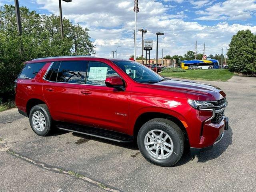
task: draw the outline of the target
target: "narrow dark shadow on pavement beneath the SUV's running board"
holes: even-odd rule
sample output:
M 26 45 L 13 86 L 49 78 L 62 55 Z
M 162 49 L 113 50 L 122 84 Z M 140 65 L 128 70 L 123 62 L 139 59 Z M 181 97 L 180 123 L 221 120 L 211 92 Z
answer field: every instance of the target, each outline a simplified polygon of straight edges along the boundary
M 123 148 L 131 149 L 131 150 L 139 150 L 138 146 L 134 142 L 131 142 L 131 143 L 120 143 L 120 142 L 115 142 L 115 141 L 111 141 L 111 140 L 101 139 L 101 138 L 97 138 L 97 137 L 93 137 L 93 136 L 87 136 L 87 135 L 83 135 L 83 134 L 78 134 L 78 133 L 72 133 L 72 135 L 74 135 L 76 137 L 84 138 L 86 140 L 94 140 L 94 141 L 98 141 L 98 142 L 102 142 L 102 143 L 106 143 L 106 144 L 111 144 L 111 145 L 115 145 L 115 146 L 118 146 L 118 147 L 123 147 Z

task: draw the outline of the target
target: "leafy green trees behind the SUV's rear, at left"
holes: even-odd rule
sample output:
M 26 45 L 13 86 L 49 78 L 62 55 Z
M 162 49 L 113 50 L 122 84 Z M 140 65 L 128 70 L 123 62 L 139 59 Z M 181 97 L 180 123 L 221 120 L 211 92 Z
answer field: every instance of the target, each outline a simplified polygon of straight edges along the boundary
M 0 101 L 14 96 L 14 80 L 23 63 L 34 58 L 95 53 L 88 28 L 63 19 L 64 37 L 60 33 L 60 17 L 41 15 L 20 7 L 22 34 L 17 32 L 15 7 L 0 7 Z

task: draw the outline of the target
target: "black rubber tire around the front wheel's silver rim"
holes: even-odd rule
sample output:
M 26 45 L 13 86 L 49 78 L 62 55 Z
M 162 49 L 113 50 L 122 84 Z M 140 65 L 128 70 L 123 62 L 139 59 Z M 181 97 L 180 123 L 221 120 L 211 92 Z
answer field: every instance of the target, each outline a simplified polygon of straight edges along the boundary
M 146 134 L 150 132 L 150 130 L 162 130 L 170 136 L 173 142 L 173 152 L 171 155 L 166 159 L 157 159 L 154 158 L 150 153 L 146 150 L 146 146 L 144 144 L 144 139 Z M 148 122 L 146 122 L 139 130 L 138 137 L 137 137 L 138 148 L 140 149 L 141 154 L 144 156 L 148 162 L 163 166 L 163 167 L 170 167 L 176 164 L 180 158 L 182 157 L 183 150 L 184 150 L 184 134 L 180 130 L 177 124 L 174 122 L 162 119 L 162 118 L 155 118 Z

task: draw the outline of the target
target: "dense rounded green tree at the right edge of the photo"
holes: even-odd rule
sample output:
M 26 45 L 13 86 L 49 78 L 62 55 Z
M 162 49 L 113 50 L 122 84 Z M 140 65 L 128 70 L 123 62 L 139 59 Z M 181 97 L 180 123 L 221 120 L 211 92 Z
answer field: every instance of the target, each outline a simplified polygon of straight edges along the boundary
M 250 30 L 238 31 L 231 39 L 228 66 L 234 72 L 256 73 L 256 35 Z

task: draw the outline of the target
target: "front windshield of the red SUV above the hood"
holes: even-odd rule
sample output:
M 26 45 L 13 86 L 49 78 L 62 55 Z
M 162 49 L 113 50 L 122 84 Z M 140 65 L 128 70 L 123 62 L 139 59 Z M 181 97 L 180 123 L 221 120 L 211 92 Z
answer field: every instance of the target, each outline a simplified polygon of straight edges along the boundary
M 154 71 L 148 67 L 133 61 L 112 61 L 119 68 L 121 68 L 126 74 L 130 76 L 133 80 L 140 83 L 157 83 L 164 81 L 160 75 L 156 74 Z

